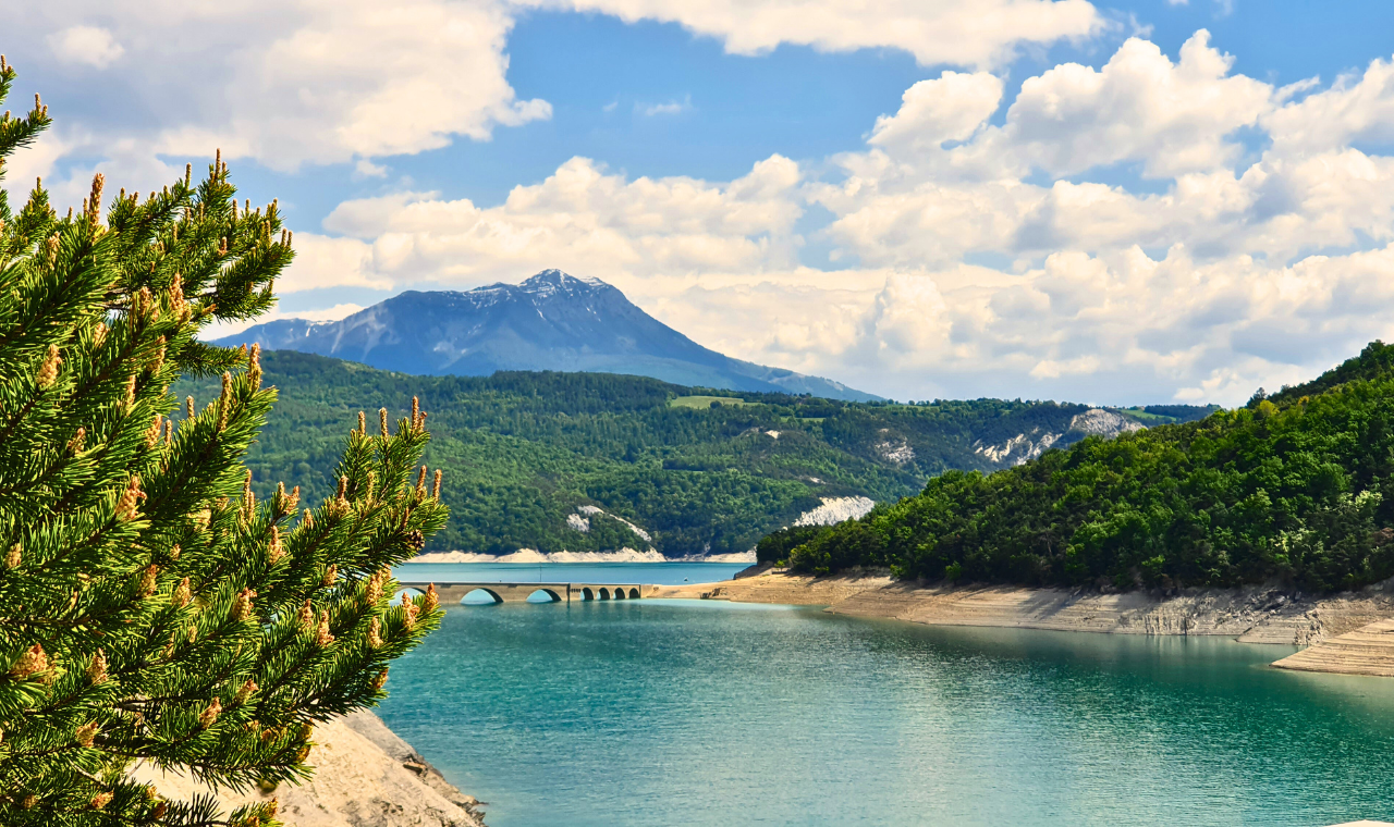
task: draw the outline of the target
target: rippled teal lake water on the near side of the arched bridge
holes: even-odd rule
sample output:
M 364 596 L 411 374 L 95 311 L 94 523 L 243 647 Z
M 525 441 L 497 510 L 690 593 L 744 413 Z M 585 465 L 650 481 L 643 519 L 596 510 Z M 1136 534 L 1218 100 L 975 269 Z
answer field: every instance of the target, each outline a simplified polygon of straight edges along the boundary
M 491 827 L 1394 820 L 1394 681 L 1224 639 L 460 607 L 381 714 Z

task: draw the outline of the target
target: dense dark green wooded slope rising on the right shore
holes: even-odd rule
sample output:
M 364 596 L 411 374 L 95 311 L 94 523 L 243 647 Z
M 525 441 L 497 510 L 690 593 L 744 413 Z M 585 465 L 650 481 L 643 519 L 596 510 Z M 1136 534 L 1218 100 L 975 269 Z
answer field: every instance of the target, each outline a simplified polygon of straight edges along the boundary
M 1236 411 L 1020 466 L 951 471 L 866 518 L 765 537 L 827 574 L 1029 585 L 1333 590 L 1394 575 L 1394 348 Z

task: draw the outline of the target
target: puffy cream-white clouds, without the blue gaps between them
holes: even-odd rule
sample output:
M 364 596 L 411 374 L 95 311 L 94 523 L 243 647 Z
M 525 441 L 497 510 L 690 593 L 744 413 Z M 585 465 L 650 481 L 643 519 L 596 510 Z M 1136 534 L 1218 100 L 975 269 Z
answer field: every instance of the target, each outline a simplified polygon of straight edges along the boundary
M 66 120 L 11 180 L 88 157 L 96 136 L 103 156 L 75 164 L 68 200 L 92 168 L 158 185 L 181 171 L 167 159 L 212 146 L 386 180 L 375 162 L 548 118 L 507 82 L 509 32 L 526 10 L 587 11 L 676 22 L 739 54 L 888 47 L 953 68 L 926 71 L 861 146 L 772 155 L 730 181 L 573 157 L 498 206 L 424 188 L 348 200 L 297 233 L 282 291 L 470 288 L 556 266 L 615 283 L 708 347 L 896 398 L 1234 404 L 1394 333 L 1394 156 L 1374 149 L 1394 141 L 1391 61 L 1278 88 L 1236 74 L 1204 31 L 1174 56 L 1136 36 L 1098 68 L 1054 65 L 1009 95 L 1020 49 L 1108 28 L 1092 4 L 269 8 L 15 10 L 32 60 L 131 106 Z M 827 220 L 810 230 L 810 216 Z

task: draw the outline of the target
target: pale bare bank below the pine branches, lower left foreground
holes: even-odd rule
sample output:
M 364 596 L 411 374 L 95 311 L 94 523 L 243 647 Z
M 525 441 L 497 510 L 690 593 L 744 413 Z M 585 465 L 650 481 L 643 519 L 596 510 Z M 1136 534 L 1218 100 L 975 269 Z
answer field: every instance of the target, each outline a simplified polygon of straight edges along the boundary
M 183 773 L 149 764 L 131 775 L 169 798 L 212 794 L 227 809 L 275 798 L 289 827 L 484 827 L 480 802 L 452 787 L 378 716 L 360 711 L 322 724 L 314 739 L 309 764 L 315 775 L 300 787 L 212 791 Z

